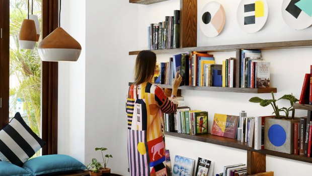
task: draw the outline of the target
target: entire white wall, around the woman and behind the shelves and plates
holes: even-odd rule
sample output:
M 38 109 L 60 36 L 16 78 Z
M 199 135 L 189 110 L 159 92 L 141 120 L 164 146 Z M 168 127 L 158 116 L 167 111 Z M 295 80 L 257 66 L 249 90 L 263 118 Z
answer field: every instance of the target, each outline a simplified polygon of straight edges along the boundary
M 198 1 L 198 11 L 210 1 Z M 268 1 L 269 19 L 265 27 L 255 34 L 246 34 L 237 25 L 236 9 L 240 1 L 219 0 L 226 12 L 225 28 L 215 38 L 205 37 L 198 29 L 198 46 L 312 39 L 312 27 L 292 30 L 281 18 L 282 0 Z M 128 82 L 133 80 L 135 55 L 128 51 L 147 48 L 147 26 L 158 23 L 165 16 L 173 16 L 180 9 L 179 0 L 153 5 L 135 5 L 128 1 L 63 1 L 61 25 L 83 46 L 77 63 L 60 63 L 59 66 L 59 148 L 85 164 L 96 157 L 95 147 L 107 147 L 112 172 L 128 175 L 125 115 L 125 96 Z M 263 57 L 271 62 L 272 86 L 277 87 L 276 97 L 293 93 L 299 97 L 304 73 L 312 65 L 311 48 L 264 50 Z M 235 56 L 234 52 L 215 52 L 216 63 Z M 167 61 L 170 55 L 158 55 L 158 61 Z M 270 94 L 220 93 L 182 91 L 186 104 L 192 109 L 208 110 L 211 131 L 214 113 L 268 115 L 270 107 L 249 103 L 253 96 L 269 98 Z M 280 106 L 288 105 L 281 102 Z M 297 115 L 304 115 L 298 111 Z M 78 137 L 78 139 L 76 139 Z M 81 138 L 79 138 L 81 137 Z M 222 166 L 246 163 L 247 152 L 175 137 L 166 137 L 172 158 L 182 155 L 197 159 L 205 157 L 215 161 L 214 170 Z M 178 146 L 178 147 L 177 147 Z M 285 169 L 296 168 L 296 169 Z M 267 170 L 275 175 L 305 175 L 310 164 L 267 156 Z

